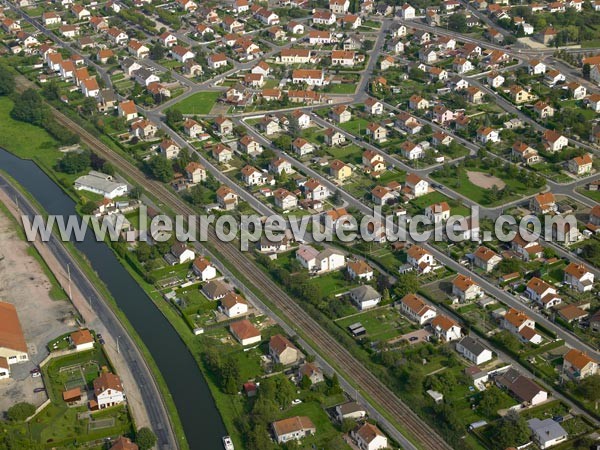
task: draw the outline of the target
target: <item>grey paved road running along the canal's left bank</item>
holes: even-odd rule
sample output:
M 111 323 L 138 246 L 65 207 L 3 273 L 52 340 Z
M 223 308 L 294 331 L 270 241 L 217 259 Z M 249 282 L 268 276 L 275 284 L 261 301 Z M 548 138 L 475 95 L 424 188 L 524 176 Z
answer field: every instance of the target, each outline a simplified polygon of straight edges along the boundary
M 22 213 L 27 215 L 30 220 L 33 220 L 33 217 L 38 215 L 29 200 L 23 196 L 20 191 L 10 185 L 8 180 L 1 175 L 0 189 L 2 189 L 10 198 L 17 199 Z M 94 285 L 79 268 L 79 265 L 65 249 L 62 242 L 52 234 L 51 239 L 45 245 L 63 267 L 70 267 L 70 275 L 73 284 L 76 285 L 85 298 L 88 299 L 90 308 L 97 314 L 98 319 L 105 326 L 108 333 L 111 336 L 120 336 L 119 354 L 125 360 L 129 370 L 137 380 L 137 385 L 150 418 L 152 429 L 158 438 L 158 448 L 164 450 L 179 448 L 178 442 L 169 425 L 171 421 L 163 403 L 162 395 L 142 354 L 127 333 L 127 330 L 123 327 Z

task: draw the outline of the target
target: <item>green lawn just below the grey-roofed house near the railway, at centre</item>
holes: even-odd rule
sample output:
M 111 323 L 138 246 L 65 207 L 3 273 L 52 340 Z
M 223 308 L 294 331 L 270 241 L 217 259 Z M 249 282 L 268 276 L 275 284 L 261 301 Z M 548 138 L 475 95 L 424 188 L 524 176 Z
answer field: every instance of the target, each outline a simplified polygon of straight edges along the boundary
M 340 319 L 336 323 L 344 331 L 347 331 L 348 326 L 357 322 L 365 327 L 367 335 L 372 341 L 388 341 L 410 331 L 408 321 L 392 306 L 354 314 Z

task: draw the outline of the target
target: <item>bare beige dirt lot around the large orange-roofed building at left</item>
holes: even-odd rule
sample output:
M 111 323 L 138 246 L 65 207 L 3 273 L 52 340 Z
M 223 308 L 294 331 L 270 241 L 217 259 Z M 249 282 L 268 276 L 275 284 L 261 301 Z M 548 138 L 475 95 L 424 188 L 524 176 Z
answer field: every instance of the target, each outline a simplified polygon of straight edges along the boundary
M 48 355 L 48 341 L 76 329 L 73 307 L 67 301 L 50 298 L 51 283 L 27 252 L 28 247 L 15 232 L 14 222 L 0 211 L 0 299 L 17 307 L 30 358 L 29 362 L 14 364 L 11 379 L 0 382 L 0 414 L 17 401 L 39 405 L 46 400 L 45 394 L 33 393 L 43 384 L 29 371 Z

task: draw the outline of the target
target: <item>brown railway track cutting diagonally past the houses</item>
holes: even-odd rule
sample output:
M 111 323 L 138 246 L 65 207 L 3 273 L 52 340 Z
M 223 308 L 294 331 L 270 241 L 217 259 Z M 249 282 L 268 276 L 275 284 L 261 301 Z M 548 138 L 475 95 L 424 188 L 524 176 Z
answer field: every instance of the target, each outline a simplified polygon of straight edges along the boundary
M 168 204 L 174 212 L 182 215 L 196 214 L 187 203 L 178 195 L 169 191 L 162 183 L 146 178 L 135 165 L 115 153 L 94 135 L 59 111 L 52 109 L 52 112 L 58 123 L 79 134 L 83 143 L 94 149 L 115 167 L 124 170 L 132 180 L 150 192 L 155 198 Z M 213 228 L 209 228 L 208 234 L 211 245 L 215 247 L 217 253 L 228 261 L 235 261 L 237 269 L 255 287 L 260 289 L 279 310 L 292 320 L 296 329 L 301 329 L 310 336 L 310 339 L 327 358 L 351 377 L 356 384 L 361 386 L 362 390 L 373 401 L 383 406 L 393 420 L 401 424 L 412 439 L 419 443 L 420 447 L 431 450 L 451 449 L 435 430 L 418 417 L 391 389 L 352 356 L 344 346 L 325 331 L 321 325 L 305 312 L 271 278 L 257 268 L 255 263 L 250 261 L 234 244 L 221 242 L 217 239 Z

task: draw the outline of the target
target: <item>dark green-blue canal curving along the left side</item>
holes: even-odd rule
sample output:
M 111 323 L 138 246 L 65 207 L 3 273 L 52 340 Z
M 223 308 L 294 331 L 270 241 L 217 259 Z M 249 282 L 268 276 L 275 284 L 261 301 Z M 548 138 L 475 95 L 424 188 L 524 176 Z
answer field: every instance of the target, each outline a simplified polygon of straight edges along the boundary
M 75 202 L 34 162 L 0 149 L 0 169 L 25 188 L 48 214 L 76 214 Z M 192 450 L 223 448 L 226 433 L 206 380 L 175 329 L 104 242 L 86 233 L 74 242 L 110 290 L 162 373 Z M 167 424 L 164 424 L 167 426 Z

